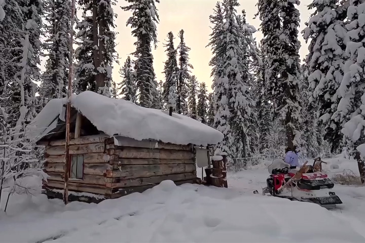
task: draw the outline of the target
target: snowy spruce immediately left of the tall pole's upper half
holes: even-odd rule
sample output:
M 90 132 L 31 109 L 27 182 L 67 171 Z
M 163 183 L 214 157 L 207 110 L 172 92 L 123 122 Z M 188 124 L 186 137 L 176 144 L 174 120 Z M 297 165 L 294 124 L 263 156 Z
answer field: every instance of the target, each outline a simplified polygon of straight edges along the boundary
M 66 96 L 69 66 L 70 0 L 45 3 L 45 27 L 48 39 L 46 70 L 41 76 L 40 95 L 50 100 Z

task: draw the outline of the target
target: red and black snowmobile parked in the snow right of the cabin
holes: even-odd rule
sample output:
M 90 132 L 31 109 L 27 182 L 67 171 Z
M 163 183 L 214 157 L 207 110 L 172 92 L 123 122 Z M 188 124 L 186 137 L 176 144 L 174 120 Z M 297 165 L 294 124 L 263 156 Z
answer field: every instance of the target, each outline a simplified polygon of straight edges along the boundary
M 290 200 L 306 201 L 323 207 L 342 204 L 341 199 L 331 191 L 334 183 L 318 166 L 323 161 L 316 159 L 313 166 L 308 161 L 299 169 L 290 167 L 282 159 L 274 159 L 268 167 L 270 176 L 266 180 L 267 187 L 263 195 L 272 195 Z M 253 193 L 259 193 L 257 190 Z

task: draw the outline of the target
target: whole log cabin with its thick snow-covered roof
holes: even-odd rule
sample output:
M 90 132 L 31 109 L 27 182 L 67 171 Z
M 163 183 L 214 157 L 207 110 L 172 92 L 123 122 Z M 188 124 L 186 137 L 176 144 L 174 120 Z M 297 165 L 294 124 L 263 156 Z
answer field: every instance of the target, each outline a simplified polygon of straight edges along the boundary
M 50 100 L 27 127 L 32 141 L 45 146 L 49 177 L 43 193 L 48 198 L 63 194 L 66 102 Z M 197 159 L 206 160 L 199 161 L 204 166 L 207 146 L 223 140 L 221 132 L 190 117 L 90 91 L 73 95 L 70 102 L 69 201 L 98 203 L 163 180 L 195 183 Z

